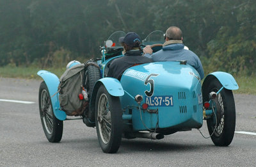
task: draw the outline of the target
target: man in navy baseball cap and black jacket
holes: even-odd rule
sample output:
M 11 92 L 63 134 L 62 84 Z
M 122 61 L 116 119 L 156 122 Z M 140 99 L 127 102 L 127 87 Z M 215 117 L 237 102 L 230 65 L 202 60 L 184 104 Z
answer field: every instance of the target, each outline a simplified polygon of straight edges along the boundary
M 141 39 L 136 33 L 127 33 L 119 39 L 124 47 L 124 56 L 116 58 L 109 65 L 108 77 L 115 77 L 120 80 L 124 71 L 136 64 L 150 63 L 152 60 L 141 56 L 143 51 L 140 49 Z

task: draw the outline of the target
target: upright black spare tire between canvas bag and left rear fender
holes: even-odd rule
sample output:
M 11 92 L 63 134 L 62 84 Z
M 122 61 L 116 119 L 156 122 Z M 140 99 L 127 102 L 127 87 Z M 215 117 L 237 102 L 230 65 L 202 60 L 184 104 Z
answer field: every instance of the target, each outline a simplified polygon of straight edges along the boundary
M 88 92 L 88 96 L 91 97 L 93 86 L 100 79 L 99 67 L 96 67 L 95 65 L 88 65 L 88 67 L 86 67 L 86 72 L 84 76 L 85 76 L 84 87 Z

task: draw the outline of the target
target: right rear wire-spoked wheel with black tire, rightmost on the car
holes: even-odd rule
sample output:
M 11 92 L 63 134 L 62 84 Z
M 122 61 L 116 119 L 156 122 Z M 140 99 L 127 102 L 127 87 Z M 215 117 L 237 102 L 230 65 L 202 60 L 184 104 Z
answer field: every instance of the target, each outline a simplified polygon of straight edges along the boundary
M 222 84 L 220 81 L 212 77 L 209 84 L 204 86 L 204 102 L 209 101 L 209 93 L 211 93 L 211 91 L 217 92 L 221 87 Z M 232 91 L 223 88 L 223 90 L 218 93 L 215 102 L 212 102 L 212 106 L 214 106 L 216 115 L 212 115 L 211 118 L 207 119 L 209 134 L 211 135 L 213 132 L 211 136 L 212 142 L 216 146 L 228 146 L 232 142 L 236 127 L 236 107 Z

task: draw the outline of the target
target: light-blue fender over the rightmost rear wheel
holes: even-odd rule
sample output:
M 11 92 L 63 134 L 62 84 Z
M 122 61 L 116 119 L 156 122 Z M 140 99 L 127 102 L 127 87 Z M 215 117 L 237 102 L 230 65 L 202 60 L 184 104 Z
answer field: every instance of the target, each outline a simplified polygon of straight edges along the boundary
M 216 77 L 216 79 L 218 79 L 220 83 L 223 85 L 223 87 L 227 90 L 237 90 L 239 88 L 238 84 L 236 83 L 236 80 L 231 74 L 228 74 L 227 72 L 212 72 L 211 74 L 205 77 L 204 83 L 202 85 L 203 90 L 204 87 L 212 81 L 212 77 Z

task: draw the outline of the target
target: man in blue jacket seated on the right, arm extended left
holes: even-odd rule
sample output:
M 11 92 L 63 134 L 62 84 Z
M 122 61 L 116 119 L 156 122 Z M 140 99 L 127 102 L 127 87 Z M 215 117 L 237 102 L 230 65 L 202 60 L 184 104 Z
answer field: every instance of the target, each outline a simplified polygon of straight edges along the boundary
M 152 54 L 150 45 L 144 47 L 144 56 L 153 61 L 180 61 L 186 60 L 189 65 L 194 67 L 199 73 L 201 79 L 204 78 L 204 69 L 198 56 L 192 51 L 184 49 L 182 43 L 182 31 L 180 28 L 171 26 L 164 35 L 163 49 Z

